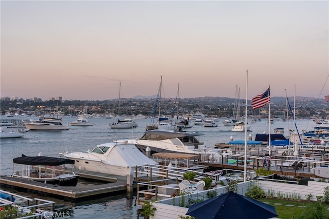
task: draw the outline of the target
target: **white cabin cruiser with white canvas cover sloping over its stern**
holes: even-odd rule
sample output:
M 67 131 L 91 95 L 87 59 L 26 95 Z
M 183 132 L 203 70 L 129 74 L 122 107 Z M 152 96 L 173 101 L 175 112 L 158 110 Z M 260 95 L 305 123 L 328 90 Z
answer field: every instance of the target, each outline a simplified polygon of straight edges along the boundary
M 135 145 L 127 144 L 127 141 L 100 144 L 91 151 L 62 155 L 74 161 L 77 169 L 120 176 L 133 174 L 136 166 L 158 164 L 139 151 Z

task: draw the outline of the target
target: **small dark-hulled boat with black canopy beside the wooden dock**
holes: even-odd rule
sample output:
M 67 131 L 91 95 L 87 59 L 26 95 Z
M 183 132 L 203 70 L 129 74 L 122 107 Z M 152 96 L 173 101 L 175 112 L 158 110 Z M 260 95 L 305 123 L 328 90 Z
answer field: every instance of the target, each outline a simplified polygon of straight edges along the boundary
M 13 159 L 13 177 L 59 186 L 76 186 L 79 175 L 73 172 L 74 161 L 48 156 L 25 156 Z M 71 165 L 71 173 L 67 173 Z

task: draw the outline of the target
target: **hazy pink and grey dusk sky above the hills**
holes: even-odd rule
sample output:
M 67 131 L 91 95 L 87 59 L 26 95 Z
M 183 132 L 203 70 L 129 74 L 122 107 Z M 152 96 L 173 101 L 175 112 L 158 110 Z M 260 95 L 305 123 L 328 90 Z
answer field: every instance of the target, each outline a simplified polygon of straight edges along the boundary
M 1 97 L 329 95 L 329 1 L 0 4 Z

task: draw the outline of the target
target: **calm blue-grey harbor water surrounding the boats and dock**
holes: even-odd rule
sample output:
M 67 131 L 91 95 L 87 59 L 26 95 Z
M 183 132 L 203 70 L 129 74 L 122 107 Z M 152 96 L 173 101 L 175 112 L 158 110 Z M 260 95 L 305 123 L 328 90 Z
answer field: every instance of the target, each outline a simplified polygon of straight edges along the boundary
M 3 119 L 6 119 L 3 117 Z M 24 119 L 29 119 L 28 117 Z M 77 120 L 74 117 L 63 118 L 64 123 Z M 143 134 L 145 125 L 149 120 L 136 120 L 139 127 L 136 129 L 111 129 L 109 124 L 115 122 L 115 118 L 90 118 L 90 123 L 94 126 L 69 126 L 65 131 L 29 131 L 22 138 L 1 139 L 0 145 L 0 173 L 12 173 L 12 159 L 22 154 L 27 156 L 36 156 L 39 152 L 44 156 L 59 156 L 60 152 L 86 151 L 94 146 L 113 140 L 122 140 L 127 138 L 137 138 Z M 227 143 L 232 136 L 234 140 L 243 140 L 244 132 L 232 132 L 231 127 L 223 126 L 224 119 L 220 119 L 218 127 L 193 126 L 189 131 L 199 131 L 205 135 L 200 140 L 208 147 L 214 147 L 216 143 Z M 315 123 L 312 120 L 297 120 L 298 130 L 313 130 Z M 275 121 L 271 124 L 271 133 L 274 128 L 284 128 L 285 133 L 288 129 L 294 129 L 293 121 L 281 122 Z M 251 124 L 252 140 L 257 133 L 268 131 L 266 120 Z M 86 185 L 85 185 L 86 186 Z M 16 191 L 11 191 L 16 192 Z M 20 192 L 21 195 L 37 197 L 36 194 L 27 194 Z M 125 194 L 109 196 L 97 200 L 81 203 L 63 202 L 50 197 L 41 197 L 46 200 L 56 202 L 56 211 L 69 212 L 69 217 L 58 218 L 137 218 L 137 210 L 141 207 L 136 205 L 136 196 L 126 197 Z

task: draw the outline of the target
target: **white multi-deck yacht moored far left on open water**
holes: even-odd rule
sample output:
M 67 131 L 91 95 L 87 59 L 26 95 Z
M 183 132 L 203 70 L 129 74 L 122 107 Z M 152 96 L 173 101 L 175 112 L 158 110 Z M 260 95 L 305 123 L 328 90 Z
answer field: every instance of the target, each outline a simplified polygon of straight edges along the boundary
M 68 130 L 68 125 L 62 123 L 62 114 L 46 114 L 39 120 L 30 120 L 24 123 L 30 130 Z

